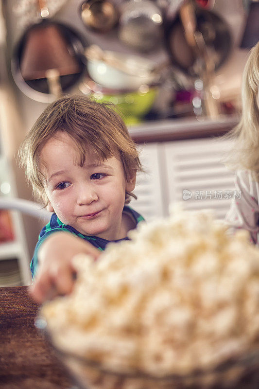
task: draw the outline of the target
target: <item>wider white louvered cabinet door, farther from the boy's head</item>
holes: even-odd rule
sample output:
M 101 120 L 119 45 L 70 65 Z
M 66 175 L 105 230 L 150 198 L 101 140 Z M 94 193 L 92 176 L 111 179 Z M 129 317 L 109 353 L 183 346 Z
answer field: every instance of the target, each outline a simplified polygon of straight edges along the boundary
M 212 209 L 223 219 L 233 196 L 234 172 L 222 162 L 230 141 L 199 139 L 164 143 L 168 181 L 168 205 L 183 202 L 185 209 Z M 183 191 L 191 198 L 183 200 Z

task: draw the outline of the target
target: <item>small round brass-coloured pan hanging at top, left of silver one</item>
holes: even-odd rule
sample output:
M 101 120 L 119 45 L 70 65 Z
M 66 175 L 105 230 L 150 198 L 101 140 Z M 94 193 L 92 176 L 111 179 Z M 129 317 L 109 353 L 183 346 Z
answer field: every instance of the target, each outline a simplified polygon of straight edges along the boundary
M 90 29 L 106 32 L 115 26 L 119 14 L 108 0 L 87 0 L 81 6 L 81 18 Z

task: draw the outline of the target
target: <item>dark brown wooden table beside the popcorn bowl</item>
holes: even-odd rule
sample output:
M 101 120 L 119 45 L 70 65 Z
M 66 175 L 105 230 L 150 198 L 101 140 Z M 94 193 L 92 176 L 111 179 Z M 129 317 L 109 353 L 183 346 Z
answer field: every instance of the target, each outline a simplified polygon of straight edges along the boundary
M 0 388 L 67 389 L 73 384 L 34 326 L 39 305 L 26 286 L 0 288 Z

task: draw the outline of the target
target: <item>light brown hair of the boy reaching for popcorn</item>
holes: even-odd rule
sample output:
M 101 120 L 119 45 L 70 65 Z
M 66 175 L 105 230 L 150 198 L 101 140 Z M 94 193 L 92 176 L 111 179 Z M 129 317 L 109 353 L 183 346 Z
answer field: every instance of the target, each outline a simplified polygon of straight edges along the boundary
M 37 201 L 44 201 L 45 207 L 48 199 L 44 190 L 45 178 L 39 169 L 40 152 L 57 131 L 64 131 L 75 142 L 80 166 L 90 148 L 98 161 L 119 152 L 127 181 L 132 174 L 143 171 L 136 145 L 113 105 L 97 103 L 80 95 L 61 97 L 42 112 L 18 151 L 20 165 L 25 168 L 33 194 Z M 126 192 L 125 203 L 130 202 L 130 196 L 137 198 Z

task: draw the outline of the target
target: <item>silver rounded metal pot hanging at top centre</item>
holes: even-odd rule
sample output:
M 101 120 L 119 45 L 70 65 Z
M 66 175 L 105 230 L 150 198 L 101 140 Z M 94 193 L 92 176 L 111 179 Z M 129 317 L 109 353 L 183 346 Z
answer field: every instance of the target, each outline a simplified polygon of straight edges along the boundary
M 129 0 L 121 6 L 118 36 L 122 42 L 141 52 L 161 44 L 163 17 L 151 0 Z

